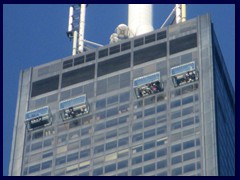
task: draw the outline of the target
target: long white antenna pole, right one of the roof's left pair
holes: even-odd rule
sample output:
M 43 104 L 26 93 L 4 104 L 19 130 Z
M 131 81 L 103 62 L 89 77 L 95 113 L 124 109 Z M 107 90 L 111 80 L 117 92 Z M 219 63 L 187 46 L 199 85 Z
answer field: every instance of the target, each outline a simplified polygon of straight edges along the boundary
M 86 16 L 86 4 L 81 4 L 80 8 L 80 21 L 79 21 L 79 36 L 78 36 L 78 52 L 83 52 L 84 49 L 84 30 L 85 30 L 85 16 Z

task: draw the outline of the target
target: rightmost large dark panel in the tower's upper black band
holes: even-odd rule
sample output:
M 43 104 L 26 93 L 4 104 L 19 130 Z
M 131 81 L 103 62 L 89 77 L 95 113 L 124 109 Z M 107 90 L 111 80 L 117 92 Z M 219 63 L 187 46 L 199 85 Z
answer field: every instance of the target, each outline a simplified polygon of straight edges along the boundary
M 170 54 L 197 47 L 197 34 L 189 34 L 170 41 Z

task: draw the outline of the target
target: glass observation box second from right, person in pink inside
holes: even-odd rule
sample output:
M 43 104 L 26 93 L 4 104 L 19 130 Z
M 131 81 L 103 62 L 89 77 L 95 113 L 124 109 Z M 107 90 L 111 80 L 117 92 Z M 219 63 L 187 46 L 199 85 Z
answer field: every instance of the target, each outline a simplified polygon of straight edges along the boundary
M 149 96 L 164 90 L 160 72 L 134 79 L 133 88 L 137 98 Z

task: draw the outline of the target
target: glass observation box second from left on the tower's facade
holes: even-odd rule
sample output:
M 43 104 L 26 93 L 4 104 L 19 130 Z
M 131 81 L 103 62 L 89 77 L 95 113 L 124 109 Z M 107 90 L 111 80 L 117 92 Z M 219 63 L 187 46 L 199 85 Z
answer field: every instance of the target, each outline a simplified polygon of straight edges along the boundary
M 89 113 L 89 105 L 86 102 L 86 95 L 73 99 L 61 101 L 59 109 L 62 119 L 68 120 Z

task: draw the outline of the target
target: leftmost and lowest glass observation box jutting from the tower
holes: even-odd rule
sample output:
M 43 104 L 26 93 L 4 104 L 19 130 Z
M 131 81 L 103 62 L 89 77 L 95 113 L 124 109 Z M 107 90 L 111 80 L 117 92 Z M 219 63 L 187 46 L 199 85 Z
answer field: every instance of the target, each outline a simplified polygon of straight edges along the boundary
M 25 124 L 28 130 L 51 125 L 52 117 L 48 106 L 29 111 L 25 115 Z

